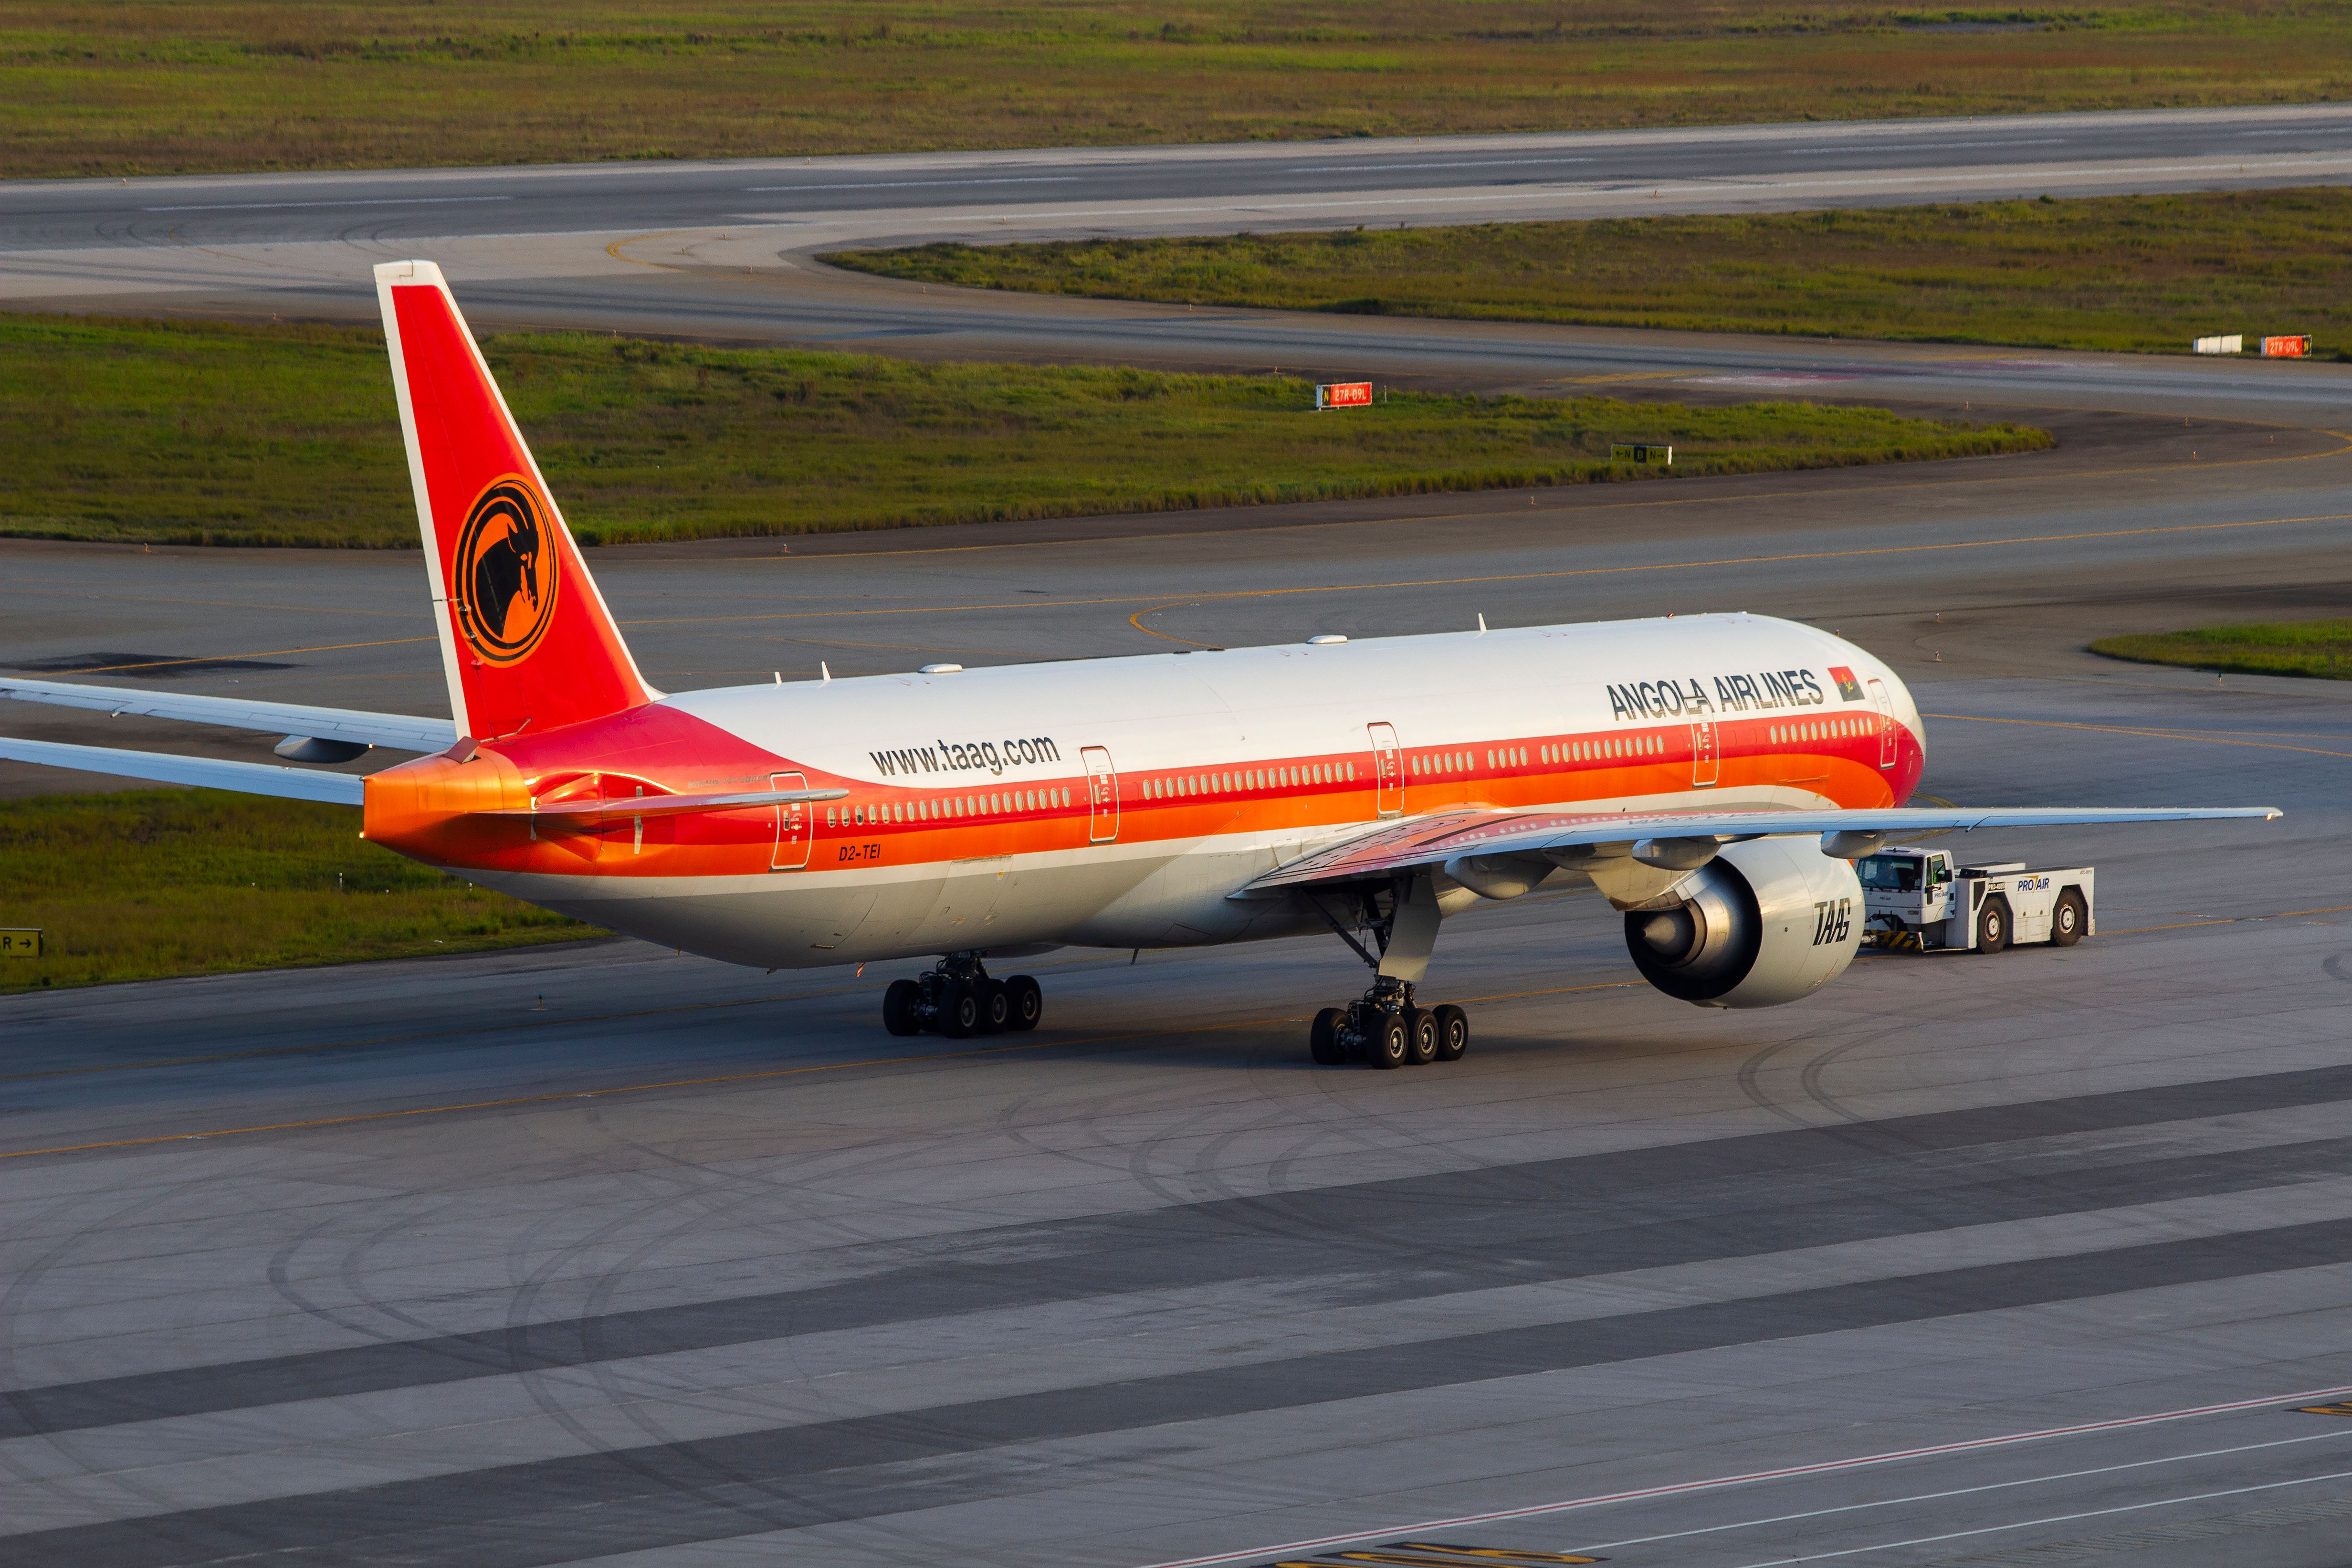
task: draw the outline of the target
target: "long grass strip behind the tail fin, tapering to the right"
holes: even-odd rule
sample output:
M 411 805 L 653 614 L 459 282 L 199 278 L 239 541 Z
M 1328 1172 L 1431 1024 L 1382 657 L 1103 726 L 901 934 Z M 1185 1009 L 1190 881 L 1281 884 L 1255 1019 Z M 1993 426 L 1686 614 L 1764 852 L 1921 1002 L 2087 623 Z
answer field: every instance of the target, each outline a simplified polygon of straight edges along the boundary
M 485 343 L 583 541 L 1145 512 L 2025 451 L 2023 425 L 1759 402 L 1397 395 L 517 334 Z M 0 317 L 0 534 L 414 545 L 374 329 Z

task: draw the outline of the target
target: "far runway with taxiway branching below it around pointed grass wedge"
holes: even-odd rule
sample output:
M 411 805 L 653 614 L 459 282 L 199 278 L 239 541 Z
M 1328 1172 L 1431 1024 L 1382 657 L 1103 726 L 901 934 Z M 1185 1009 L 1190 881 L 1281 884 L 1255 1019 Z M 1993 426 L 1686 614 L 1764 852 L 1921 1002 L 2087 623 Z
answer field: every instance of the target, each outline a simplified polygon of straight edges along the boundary
M 2352 106 L 2324 103 L 821 162 L 40 181 L 0 186 L 0 306 L 374 322 L 369 268 L 428 256 L 480 327 L 1482 386 L 1729 378 L 1750 395 L 1795 388 L 2274 416 L 2274 404 L 2310 390 L 2296 371 L 2314 367 L 927 292 L 809 256 L 927 240 L 1764 212 L 2345 179 Z M 2340 393 L 2328 397 L 2343 407 Z

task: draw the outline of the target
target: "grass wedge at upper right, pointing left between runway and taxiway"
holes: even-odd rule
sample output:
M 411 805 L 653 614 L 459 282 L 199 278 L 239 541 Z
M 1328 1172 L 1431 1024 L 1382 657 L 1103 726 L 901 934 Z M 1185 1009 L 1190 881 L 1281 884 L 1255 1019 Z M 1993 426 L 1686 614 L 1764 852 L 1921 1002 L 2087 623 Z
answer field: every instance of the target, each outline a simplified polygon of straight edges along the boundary
M 2352 343 L 2352 190 L 2246 190 L 1484 223 L 1334 235 L 927 244 L 889 277 L 1218 306 L 2187 353 Z

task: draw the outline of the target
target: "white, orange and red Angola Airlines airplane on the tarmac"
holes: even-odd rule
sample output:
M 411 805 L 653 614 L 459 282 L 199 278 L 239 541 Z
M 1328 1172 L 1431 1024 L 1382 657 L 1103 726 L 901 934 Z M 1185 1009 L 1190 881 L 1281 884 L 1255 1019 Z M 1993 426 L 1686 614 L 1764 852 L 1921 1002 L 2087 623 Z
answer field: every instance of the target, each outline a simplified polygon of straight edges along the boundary
M 863 675 L 663 693 L 630 658 L 440 268 L 376 268 L 449 719 L 0 677 L 0 693 L 275 731 L 367 776 L 0 738 L 0 757 L 362 809 L 362 837 L 731 964 L 936 959 L 894 1034 L 1030 1030 L 1056 947 L 1329 933 L 1371 971 L 1315 1063 L 1456 1060 L 1446 914 L 1595 886 L 1644 980 L 1797 1001 L 1863 940 L 1853 858 L 1926 830 L 2277 818 L 1905 806 L 1910 691 L 1750 614 Z

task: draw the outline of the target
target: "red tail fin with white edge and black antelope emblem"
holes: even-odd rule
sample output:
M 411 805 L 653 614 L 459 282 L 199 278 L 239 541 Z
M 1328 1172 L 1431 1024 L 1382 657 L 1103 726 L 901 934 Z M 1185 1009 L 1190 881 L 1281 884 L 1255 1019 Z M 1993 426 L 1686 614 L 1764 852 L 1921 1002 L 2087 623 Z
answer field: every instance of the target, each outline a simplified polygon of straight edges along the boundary
M 400 435 L 461 736 L 510 736 L 652 698 L 440 268 L 376 268 Z

